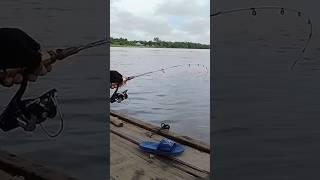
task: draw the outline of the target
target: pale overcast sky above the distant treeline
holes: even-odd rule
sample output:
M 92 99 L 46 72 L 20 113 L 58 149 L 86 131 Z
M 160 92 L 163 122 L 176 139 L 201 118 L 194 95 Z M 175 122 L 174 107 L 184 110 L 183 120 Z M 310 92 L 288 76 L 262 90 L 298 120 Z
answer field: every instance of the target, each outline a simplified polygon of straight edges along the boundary
M 210 0 L 111 0 L 112 37 L 209 44 Z

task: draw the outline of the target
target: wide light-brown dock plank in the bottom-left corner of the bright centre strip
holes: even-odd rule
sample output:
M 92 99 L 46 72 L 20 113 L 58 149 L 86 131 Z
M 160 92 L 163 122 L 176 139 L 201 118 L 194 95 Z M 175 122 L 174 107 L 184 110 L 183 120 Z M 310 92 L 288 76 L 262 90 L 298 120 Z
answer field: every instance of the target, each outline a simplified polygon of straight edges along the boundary
M 170 162 L 146 156 L 137 149 L 136 144 L 118 135 L 111 133 L 110 140 L 111 179 L 199 179 L 172 166 Z

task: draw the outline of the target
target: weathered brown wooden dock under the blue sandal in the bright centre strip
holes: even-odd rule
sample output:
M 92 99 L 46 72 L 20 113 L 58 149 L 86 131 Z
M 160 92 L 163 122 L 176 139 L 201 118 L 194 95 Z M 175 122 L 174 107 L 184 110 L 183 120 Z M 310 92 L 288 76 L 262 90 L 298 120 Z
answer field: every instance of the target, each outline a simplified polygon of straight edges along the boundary
M 114 180 L 209 179 L 210 146 L 116 111 L 110 112 L 110 168 Z M 139 142 L 172 139 L 185 147 L 180 156 L 167 158 L 144 153 Z

